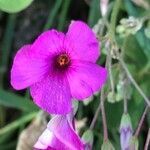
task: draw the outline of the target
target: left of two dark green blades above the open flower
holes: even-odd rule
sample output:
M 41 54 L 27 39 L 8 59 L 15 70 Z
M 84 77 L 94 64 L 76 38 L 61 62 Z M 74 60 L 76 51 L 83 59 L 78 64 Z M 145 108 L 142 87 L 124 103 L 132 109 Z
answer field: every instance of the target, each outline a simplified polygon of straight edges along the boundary
M 52 23 L 54 21 L 54 18 L 56 17 L 56 15 L 58 14 L 58 10 L 62 4 L 63 0 L 56 0 L 55 5 L 53 7 L 53 9 L 50 11 L 47 22 L 44 26 L 43 31 L 49 29 L 52 27 Z

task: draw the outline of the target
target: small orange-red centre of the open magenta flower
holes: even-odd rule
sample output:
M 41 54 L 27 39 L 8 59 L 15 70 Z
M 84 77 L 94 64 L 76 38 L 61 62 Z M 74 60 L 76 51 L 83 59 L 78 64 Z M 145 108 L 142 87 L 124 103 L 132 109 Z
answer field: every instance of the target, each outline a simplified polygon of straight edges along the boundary
M 70 58 L 67 54 L 61 54 L 57 57 L 57 65 L 59 67 L 67 67 L 70 64 Z

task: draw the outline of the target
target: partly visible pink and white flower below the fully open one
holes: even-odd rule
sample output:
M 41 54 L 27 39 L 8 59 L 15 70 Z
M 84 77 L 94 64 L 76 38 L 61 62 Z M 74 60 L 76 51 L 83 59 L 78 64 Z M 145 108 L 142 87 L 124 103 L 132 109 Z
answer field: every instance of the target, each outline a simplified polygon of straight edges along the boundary
M 74 130 L 73 117 L 56 115 L 34 145 L 35 150 L 84 150 L 84 143 Z

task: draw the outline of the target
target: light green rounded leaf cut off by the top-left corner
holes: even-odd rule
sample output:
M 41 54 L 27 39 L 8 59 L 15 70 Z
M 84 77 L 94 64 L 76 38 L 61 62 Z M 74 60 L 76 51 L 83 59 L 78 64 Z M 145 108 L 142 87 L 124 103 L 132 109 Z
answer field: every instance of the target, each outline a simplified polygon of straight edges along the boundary
M 16 13 L 27 8 L 33 0 L 0 0 L 0 9 L 7 13 Z

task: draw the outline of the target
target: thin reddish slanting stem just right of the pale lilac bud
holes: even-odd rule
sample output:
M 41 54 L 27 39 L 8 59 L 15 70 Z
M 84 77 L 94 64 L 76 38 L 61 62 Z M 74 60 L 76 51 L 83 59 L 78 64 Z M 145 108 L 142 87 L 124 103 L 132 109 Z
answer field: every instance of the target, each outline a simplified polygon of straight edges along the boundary
M 140 122 L 139 122 L 139 124 L 138 124 L 138 127 L 137 127 L 137 129 L 136 129 L 136 131 L 135 131 L 135 134 L 134 134 L 135 137 L 138 137 L 138 135 L 139 135 L 139 133 L 140 133 L 140 129 L 141 129 L 141 127 L 142 127 L 142 124 L 143 124 L 143 121 L 144 121 L 144 118 L 145 118 L 145 115 L 146 115 L 148 109 L 149 109 L 149 107 L 146 106 L 146 108 L 145 108 L 145 110 L 144 110 L 144 112 L 143 112 L 143 115 L 142 115 L 142 117 L 141 117 L 141 119 L 140 119 Z

